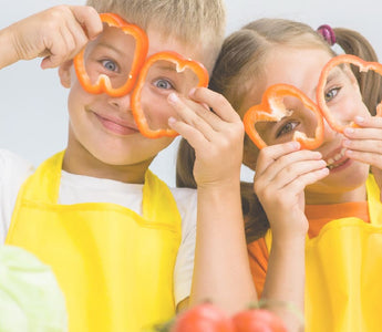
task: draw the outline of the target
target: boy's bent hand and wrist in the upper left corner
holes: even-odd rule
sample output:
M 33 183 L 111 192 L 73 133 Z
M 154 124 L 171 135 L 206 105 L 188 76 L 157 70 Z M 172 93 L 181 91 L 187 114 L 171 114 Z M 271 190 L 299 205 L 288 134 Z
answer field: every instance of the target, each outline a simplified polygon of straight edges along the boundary
M 58 6 L 35 13 L 0 31 L 0 69 L 39 56 L 44 58 L 43 69 L 55 68 L 102 29 L 100 15 L 91 7 Z

